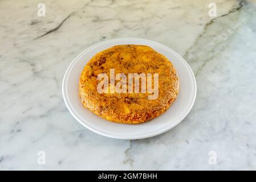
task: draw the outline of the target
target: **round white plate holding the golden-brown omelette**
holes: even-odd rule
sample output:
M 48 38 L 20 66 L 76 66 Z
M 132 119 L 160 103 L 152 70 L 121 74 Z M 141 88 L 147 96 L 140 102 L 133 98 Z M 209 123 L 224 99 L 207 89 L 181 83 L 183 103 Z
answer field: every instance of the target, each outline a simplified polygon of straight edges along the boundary
M 177 70 L 180 79 L 180 92 L 172 106 L 160 117 L 138 125 L 124 125 L 109 122 L 98 117 L 83 107 L 78 97 L 78 82 L 80 73 L 87 62 L 97 53 L 120 44 L 140 44 L 150 46 L 162 53 Z M 63 78 L 63 98 L 70 113 L 83 126 L 97 134 L 117 139 L 142 139 L 159 135 L 172 129 L 188 115 L 196 99 L 196 79 L 188 63 L 177 52 L 169 47 L 151 40 L 138 38 L 112 39 L 95 44 L 80 53 L 69 65 Z

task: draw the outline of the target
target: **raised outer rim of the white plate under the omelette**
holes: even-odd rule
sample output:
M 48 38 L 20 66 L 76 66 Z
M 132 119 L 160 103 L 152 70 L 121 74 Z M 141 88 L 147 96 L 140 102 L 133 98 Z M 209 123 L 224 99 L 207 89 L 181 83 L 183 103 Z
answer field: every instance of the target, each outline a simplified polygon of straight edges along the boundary
M 79 114 L 76 114 L 75 110 L 72 109 L 70 107 L 70 105 L 68 104 L 68 98 L 66 97 L 67 96 L 67 94 L 66 94 L 66 84 L 67 84 L 66 80 L 67 80 L 68 73 L 70 73 L 70 70 L 71 70 L 72 66 L 76 63 L 76 61 L 78 61 L 78 58 L 80 56 L 82 56 L 84 53 L 90 51 L 90 49 L 93 49 L 93 48 L 95 48 L 97 46 L 101 46 L 102 44 L 105 44 L 105 43 L 115 42 L 115 41 L 120 41 L 120 40 L 133 40 L 133 41 L 141 40 L 141 41 L 146 41 L 146 42 L 151 42 L 151 43 L 154 43 L 154 44 L 158 44 L 159 46 L 161 46 L 161 47 L 163 47 L 165 49 L 168 49 L 168 51 L 171 51 L 172 53 L 174 53 L 174 55 L 176 55 L 180 60 L 182 60 L 183 63 L 185 63 L 186 67 L 188 68 L 188 70 L 190 72 L 190 75 L 192 75 L 192 81 L 193 81 L 193 85 L 194 85 L 194 97 L 192 98 L 192 102 L 191 102 L 191 104 L 189 106 L 189 109 L 173 125 L 169 125 L 168 127 L 164 127 L 163 129 L 159 129 L 159 130 L 157 130 L 156 132 L 154 132 L 152 134 L 137 135 L 136 137 L 122 137 L 122 136 L 118 137 L 116 135 L 111 135 L 109 133 L 104 133 L 102 131 L 99 131 L 99 130 L 95 129 L 94 127 L 88 125 L 88 123 L 85 123 L 85 122 L 81 121 L 82 119 L 79 118 Z M 78 121 L 81 125 L 83 125 L 87 129 L 89 129 L 91 131 L 94 131 L 97 134 L 103 135 L 104 137 L 115 138 L 115 139 L 128 139 L 128 140 L 132 140 L 132 139 L 143 139 L 143 138 L 155 137 L 156 135 L 160 135 L 162 133 L 165 133 L 166 131 L 172 129 L 173 127 L 177 126 L 181 121 L 183 121 L 185 119 L 185 117 L 189 114 L 189 112 L 192 109 L 192 107 L 194 105 L 194 102 L 196 100 L 197 84 L 196 84 L 196 77 L 194 76 L 194 73 L 193 73 L 192 69 L 190 68 L 189 64 L 186 62 L 186 60 L 180 54 L 178 54 L 173 49 L 165 46 L 164 44 L 161 44 L 161 43 L 158 43 L 158 42 L 155 42 L 155 41 L 152 41 L 152 40 L 148 40 L 148 39 L 141 39 L 141 38 L 117 38 L 117 39 L 109 39 L 109 40 L 105 40 L 103 42 L 96 43 L 96 44 L 94 44 L 94 45 L 84 49 L 84 51 L 79 53 L 79 55 L 76 56 L 75 59 L 73 59 L 71 61 L 71 63 L 68 65 L 68 67 L 66 69 L 66 72 L 64 73 L 64 76 L 63 76 L 63 80 L 62 80 L 62 95 L 63 95 L 63 100 L 64 100 L 65 105 L 67 106 L 68 111 L 70 111 L 71 115 L 76 119 L 76 121 Z

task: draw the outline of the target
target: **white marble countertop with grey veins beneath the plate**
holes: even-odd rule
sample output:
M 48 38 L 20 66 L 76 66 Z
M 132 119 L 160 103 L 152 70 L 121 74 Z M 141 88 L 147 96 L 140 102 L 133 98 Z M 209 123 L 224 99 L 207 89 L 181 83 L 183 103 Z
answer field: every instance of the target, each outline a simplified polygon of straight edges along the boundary
M 256 3 L 210 3 L 0 1 L 0 169 L 256 169 Z M 124 37 L 174 49 L 196 76 L 193 109 L 157 137 L 95 134 L 63 101 L 71 61 Z

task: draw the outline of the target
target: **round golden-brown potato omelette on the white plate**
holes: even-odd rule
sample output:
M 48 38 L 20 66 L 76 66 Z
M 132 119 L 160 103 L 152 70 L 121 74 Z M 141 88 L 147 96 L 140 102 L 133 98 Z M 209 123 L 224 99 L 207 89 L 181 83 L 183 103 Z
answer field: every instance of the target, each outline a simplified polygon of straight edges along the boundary
M 114 82 L 113 79 L 111 81 L 111 70 L 115 71 L 115 76 L 123 73 L 127 80 L 125 77 L 119 80 L 114 77 Z M 104 92 L 97 89 L 100 82 L 103 82 L 102 77 L 99 79 L 100 73 L 108 77 Z M 145 87 L 142 85 L 142 78 L 139 77 L 141 85 L 138 93 L 135 92 L 135 78 L 141 73 L 151 77 L 147 77 Z M 130 75 L 134 76 L 134 80 L 132 77 L 129 80 Z M 155 80 L 157 76 L 158 80 Z M 123 92 L 109 91 L 111 85 L 114 84 L 112 89 L 115 89 L 119 81 L 124 84 L 119 85 Z M 148 81 L 152 81 L 151 84 L 148 84 Z M 155 84 L 158 84 L 158 88 Z M 148 89 L 149 85 L 152 88 L 151 92 Z M 152 90 L 158 93 L 153 93 Z M 113 46 L 97 53 L 86 64 L 79 80 L 79 97 L 84 107 L 108 121 L 125 124 L 143 123 L 158 117 L 173 104 L 178 91 L 178 75 L 173 64 L 151 47 L 133 44 Z M 153 94 L 156 97 L 149 99 Z

